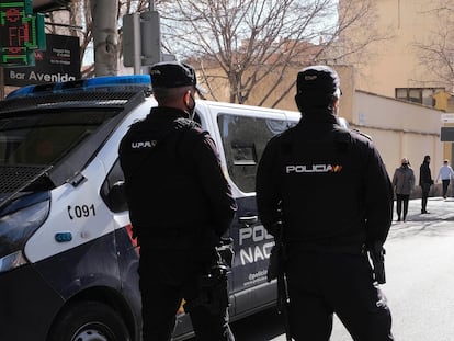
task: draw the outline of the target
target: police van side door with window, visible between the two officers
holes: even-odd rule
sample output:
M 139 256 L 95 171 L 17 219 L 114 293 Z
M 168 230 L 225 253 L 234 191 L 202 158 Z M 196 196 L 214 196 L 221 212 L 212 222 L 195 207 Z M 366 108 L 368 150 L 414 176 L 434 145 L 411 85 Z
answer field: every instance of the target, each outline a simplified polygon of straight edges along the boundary
M 230 231 L 236 250 L 231 292 L 235 314 L 243 315 L 273 305 L 276 297 L 275 284 L 266 282 L 274 240 L 258 218 L 256 172 L 266 143 L 285 130 L 287 123 L 280 112 L 242 110 L 239 106 L 215 110 L 220 139 L 218 147 L 225 157 L 238 204 Z

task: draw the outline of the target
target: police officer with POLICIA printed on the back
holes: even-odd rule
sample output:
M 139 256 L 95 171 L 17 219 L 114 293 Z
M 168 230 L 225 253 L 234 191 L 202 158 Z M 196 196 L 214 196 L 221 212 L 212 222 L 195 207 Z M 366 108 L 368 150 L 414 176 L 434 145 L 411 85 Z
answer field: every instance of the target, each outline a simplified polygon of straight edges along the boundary
M 365 251 L 382 251 L 393 219 L 393 187 L 370 138 L 338 125 L 339 86 L 337 72 L 326 66 L 298 72 L 302 118 L 263 151 L 259 216 L 285 246 L 295 340 L 328 341 L 333 314 L 356 341 L 394 340 L 377 284 L 384 283 L 383 273 L 377 266 L 373 274 Z

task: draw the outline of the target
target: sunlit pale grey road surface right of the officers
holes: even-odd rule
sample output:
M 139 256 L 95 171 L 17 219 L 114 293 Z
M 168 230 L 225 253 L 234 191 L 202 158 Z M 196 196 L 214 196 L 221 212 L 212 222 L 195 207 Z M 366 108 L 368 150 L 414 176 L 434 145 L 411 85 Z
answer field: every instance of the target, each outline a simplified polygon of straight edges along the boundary
M 453 235 L 451 230 L 454 223 L 454 197 L 447 197 L 446 200 L 441 196 L 429 197 L 427 211 L 430 213 L 421 214 L 421 198 L 410 200 L 407 220 L 405 223 L 396 221 L 396 205 L 394 205 L 393 225 L 385 245 L 388 251 L 386 259 L 387 274 L 391 280 L 385 285 L 385 293 L 389 302 L 393 303 L 393 325 L 395 326 L 396 340 L 454 340 L 454 337 L 452 337 L 454 334 L 452 332 L 454 329 L 452 323 L 454 314 L 438 312 L 441 311 L 440 307 L 454 306 L 452 304 L 454 302 L 454 294 L 452 294 L 454 280 L 438 280 L 438 276 L 454 276 L 454 274 L 450 271 L 440 271 L 438 275 L 431 274 L 431 272 L 438 273 L 438 266 L 441 266 L 441 263 L 447 262 L 446 269 L 450 269 L 451 261 L 454 259 L 446 251 L 452 249 L 454 238 L 450 237 Z M 436 239 L 436 236 L 444 237 Z M 411 242 L 411 240 L 413 241 Z M 421 252 L 415 252 L 415 245 L 419 246 Z M 430 248 L 436 248 L 440 252 L 436 253 Z M 432 259 L 440 257 L 440 254 L 443 254 L 443 258 Z M 422 270 L 413 272 L 415 266 Z M 446 302 L 449 302 L 449 305 Z M 451 311 L 454 310 L 450 310 L 450 314 Z M 430 330 L 431 326 L 435 330 Z M 428 334 L 431 334 L 431 337 Z M 284 334 L 280 334 L 268 340 L 285 341 L 286 339 Z M 337 317 L 334 317 L 331 340 L 351 341 L 351 337 Z

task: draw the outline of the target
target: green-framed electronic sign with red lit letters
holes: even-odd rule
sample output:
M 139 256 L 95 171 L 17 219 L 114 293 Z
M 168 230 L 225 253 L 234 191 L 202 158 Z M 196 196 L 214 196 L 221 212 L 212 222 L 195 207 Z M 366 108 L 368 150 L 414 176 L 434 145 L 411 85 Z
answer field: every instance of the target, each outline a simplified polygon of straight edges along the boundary
M 46 48 L 44 15 L 32 0 L 0 0 L 0 66 L 34 66 L 34 49 Z

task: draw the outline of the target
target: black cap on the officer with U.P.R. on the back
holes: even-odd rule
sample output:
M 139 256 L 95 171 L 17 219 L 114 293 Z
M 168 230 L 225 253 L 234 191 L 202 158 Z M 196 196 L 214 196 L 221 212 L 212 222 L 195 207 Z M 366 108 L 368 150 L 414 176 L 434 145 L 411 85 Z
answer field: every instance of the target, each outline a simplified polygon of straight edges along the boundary
M 150 69 L 151 86 L 156 88 L 196 87 L 194 69 L 179 61 L 155 64 Z

